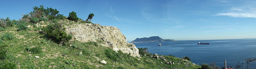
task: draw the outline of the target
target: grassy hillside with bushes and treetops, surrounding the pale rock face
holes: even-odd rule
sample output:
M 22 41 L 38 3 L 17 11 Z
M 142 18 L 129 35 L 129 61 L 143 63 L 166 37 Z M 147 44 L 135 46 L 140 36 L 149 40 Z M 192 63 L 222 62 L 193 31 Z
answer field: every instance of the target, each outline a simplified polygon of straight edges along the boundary
M 66 17 L 58 14 L 57 9 L 44 9 L 42 5 L 33 9 L 19 20 L 10 20 L 9 17 L 0 19 L 0 69 L 197 69 L 201 67 L 174 56 L 164 56 L 166 60 L 174 62 L 172 65 L 149 56 L 132 57 L 129 56 L 130 54 L 115 52 L 111 48 L 101 46 L 102 41 L 76 41 L 72 39 L 71 34 L 65 32 L 65 27 L 92 23 L 94 14 L 90 14 L 87 21 L 83 21 L 75 12 L 69 13 Z M 102 60 L 107 64 L 100 63 Z

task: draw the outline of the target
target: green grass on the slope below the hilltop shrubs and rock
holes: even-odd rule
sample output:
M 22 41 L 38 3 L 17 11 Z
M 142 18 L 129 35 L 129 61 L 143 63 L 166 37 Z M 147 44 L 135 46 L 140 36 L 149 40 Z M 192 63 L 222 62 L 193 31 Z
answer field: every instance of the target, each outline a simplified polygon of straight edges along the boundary
M 151 57 L 132 57 L 129 54 L 121 53 L 120 51 L 117 53 L 108 47 L 99 45 L 98 43 L 102 43 L 101 41 L 71 41 L 66 43 L 65 46 L 61 46 L 58 43 L 43 38 L 43 34 L 35 31 L 38 29 L 40 28 L 17 31 L 17 28 L 14 26 L 0 31 L 0 36 L 6 33 L 14 36 L 12 40 L 4 41 L 4 44 L 9 45 L 6 47 L 6 54 L 8 56 L 7 59 L 0 60 L 0 64 L 8 61 L 8 65 L 21 69 L 172 69 L 175 67 L 197 69 L 201 67 L 173 56 L 164 57 L 166 60 L 173 61 L 174 65 L 164 64 L 164 60 L 156 60 Z M 42 52 L 34 53 L 26 49 L 34 47 L 41 47 Z M 35 56 L 39 56 L 39 58 Z M 107 64 L 100 63 L 101 60 L 105 60 Z M 180 65 L 177 65 L 178 63 Z

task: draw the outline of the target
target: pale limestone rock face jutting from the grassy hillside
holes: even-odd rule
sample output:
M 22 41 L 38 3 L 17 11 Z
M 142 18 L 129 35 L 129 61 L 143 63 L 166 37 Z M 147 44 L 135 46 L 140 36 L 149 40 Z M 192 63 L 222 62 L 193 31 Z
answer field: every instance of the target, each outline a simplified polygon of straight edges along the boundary
M 121 31 L 113 26 L 102 26 L 100 24 L 74 24 L 67 27 L 66 32 L 74 35 L 75 40 L 87 41 L 103 41 L 101 44 L 110 47 L 114 51 L 121 50 L 123 53 L 131 53 L 131 56 L 140 56 L 139 49 L 134 44 L 128 43 L 126 37 Z

